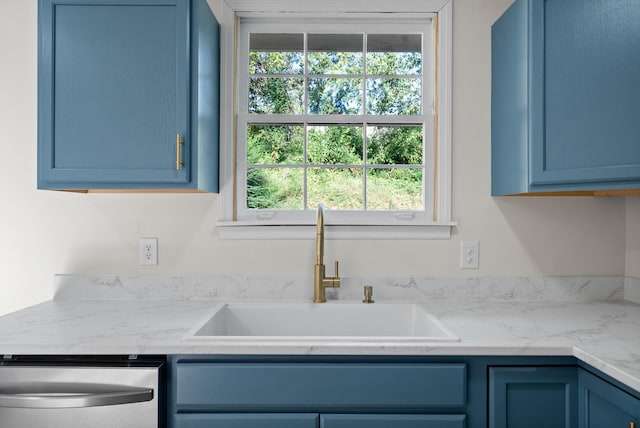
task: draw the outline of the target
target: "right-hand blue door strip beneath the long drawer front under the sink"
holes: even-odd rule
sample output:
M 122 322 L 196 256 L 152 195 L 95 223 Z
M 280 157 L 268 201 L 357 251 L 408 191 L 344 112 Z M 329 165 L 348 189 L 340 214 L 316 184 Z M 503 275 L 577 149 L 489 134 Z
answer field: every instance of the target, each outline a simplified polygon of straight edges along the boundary
M 320 428 L 464 428 L 464 415 L 320 415 Z

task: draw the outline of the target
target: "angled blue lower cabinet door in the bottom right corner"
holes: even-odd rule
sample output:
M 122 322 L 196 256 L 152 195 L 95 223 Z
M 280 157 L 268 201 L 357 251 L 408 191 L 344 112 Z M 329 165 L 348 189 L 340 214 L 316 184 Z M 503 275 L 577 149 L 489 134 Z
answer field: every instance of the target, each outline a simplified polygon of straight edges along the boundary
M 579 387 L 580 428 L 640 426 L 640 399 L 585 370 L 580 370 Z

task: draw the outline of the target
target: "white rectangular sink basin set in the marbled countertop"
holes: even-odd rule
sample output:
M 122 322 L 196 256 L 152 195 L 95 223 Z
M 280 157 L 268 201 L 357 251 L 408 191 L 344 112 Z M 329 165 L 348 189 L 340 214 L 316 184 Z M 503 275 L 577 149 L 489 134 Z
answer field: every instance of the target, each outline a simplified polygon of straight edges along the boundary
M 416 304 L 227 303 L 188 339 L 219 341 L 459 340 Z

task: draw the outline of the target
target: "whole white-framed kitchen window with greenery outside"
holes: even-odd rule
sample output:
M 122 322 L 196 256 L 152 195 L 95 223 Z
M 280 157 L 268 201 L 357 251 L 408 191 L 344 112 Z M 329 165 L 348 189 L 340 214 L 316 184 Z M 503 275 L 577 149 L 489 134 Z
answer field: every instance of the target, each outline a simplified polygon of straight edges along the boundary
M 299 230 L 321 203 L 327 225 L 351 237 L 448 237 L 450 55 L 439 14 L 245 15 L 221 234 Z

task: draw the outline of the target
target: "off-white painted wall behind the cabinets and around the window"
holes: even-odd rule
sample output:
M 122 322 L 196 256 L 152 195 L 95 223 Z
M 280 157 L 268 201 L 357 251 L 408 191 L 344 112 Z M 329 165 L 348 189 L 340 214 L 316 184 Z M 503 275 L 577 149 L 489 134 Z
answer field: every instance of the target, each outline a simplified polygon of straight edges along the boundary
M 489 196 L 490 25 L 511 0 L 453 1 L 459 226 L 448 241 L 329 241 L 327 260 L 343 276 L 624 275 L 626 215 L 638 275 L 638 199 Z M 0 2 L 0 313 L 49 299 L 56 273 L 311 277 L 312 241 L 218 240 L 217 195 L 36 190 L 36 19 L 36 0 Z M 138 237 L 154 236 L 159 266 L 138 266 Z M 480 241 L 480 270 L 458 269 L 463 239 Z

